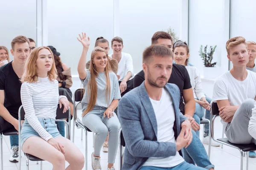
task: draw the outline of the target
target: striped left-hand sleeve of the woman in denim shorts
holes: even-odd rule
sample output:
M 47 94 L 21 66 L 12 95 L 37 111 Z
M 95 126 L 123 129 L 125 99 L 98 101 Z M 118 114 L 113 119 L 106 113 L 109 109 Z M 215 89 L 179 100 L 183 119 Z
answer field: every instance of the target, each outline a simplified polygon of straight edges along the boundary
M 48 141 L 52 138 L 41 123 L 38 121 L 38 118 L 35 116 L 35 109 L 33 105 L 33 89 L 25 82 L 21 85 L 20 88 L 21 102 L 26 113 L 26 119 L 29 122 L 29 125 L 43 138 L 45 141 Z

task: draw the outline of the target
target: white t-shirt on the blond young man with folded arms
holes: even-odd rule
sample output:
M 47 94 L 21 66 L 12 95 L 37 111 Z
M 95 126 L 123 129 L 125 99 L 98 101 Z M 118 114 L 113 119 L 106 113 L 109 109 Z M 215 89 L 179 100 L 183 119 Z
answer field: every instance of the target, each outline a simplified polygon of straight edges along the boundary
M 235 79 L 230 71 L 218 77 L 213 86 L 212 101 L 228 99 L 231 106 L 240 106 L 245 99 L 256 97 L 256 73 L 247 71 L 244 81 Z M 221 120 L 224 126 L 226 122 Z

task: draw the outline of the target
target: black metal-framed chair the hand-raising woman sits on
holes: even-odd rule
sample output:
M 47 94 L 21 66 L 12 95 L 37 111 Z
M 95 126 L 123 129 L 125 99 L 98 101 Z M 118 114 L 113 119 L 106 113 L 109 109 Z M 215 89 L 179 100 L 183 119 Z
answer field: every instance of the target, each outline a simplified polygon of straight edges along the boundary
M 90 129 L 88 129 L 86 126 L 83 125 L 83 123 L 81 121 L 77 120 L 77 106 L 81 103 L 81 100 L 83 99 L 84 96 L 84 89 L 83 88 L 79 88 L 76 89 L 74 96 L 73 96 L 73 101 L 74 101 L 74 111 L 73 111 L 73 142 L 75 140 L 75 125 L 77 127 L 81 127 L 84 129 L 84 133 L 85 133 L 85 170 L 87 170 L 87 132 L 91 132 Z

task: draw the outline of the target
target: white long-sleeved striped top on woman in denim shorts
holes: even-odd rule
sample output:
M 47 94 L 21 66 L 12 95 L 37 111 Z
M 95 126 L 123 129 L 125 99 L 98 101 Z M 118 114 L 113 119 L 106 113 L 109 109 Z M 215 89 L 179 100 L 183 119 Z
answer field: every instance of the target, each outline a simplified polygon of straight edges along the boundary
M 25 111 L 25 119 L 29 125 L 46 141 L 52 136 L 44 129 L 38 118 L 56 117 L 58 101 L 58 81 L 53 82 L 48 77 L 38 77 L 37 82 L 23 82 L 20 89 L 21 102 Z

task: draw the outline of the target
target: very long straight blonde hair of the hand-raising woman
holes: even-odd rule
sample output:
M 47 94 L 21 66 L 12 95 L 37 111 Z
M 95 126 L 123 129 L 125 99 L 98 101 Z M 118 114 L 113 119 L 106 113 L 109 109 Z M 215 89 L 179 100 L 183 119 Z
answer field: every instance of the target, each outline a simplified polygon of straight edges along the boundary
M 82 116 L 84 116 L 86 113 L 90 112 L 93 110 L 96 100 L 97 100 L 97 90 L 98 90 L 98 85 L 96 82 L 96 77 L 99 75 L 98 71 L 96 71 L 95 65 L 93 64 L 93 59 L 96 56 L 97 52 L 104 52 L 106 54 L 106 51 L 101 48 L 101 47 L 95 47 L 94 50 L 92 51 L 91 54 L 91 59 L 90 59 L 90 81 L 87 86 L 87 93 L 90 91 L 90 99 L 87 108 L 85 111 L 82 113 Z M 106 54 L 107 59 L 108 55 Z M 107 62 L 107 65 L 105 67 L 105 77 L 106 77 L 106 102 L 110 101 L 110 93 L 111 93 L 111 85 L 109 81 L 109 74 L 108 71 L 111 71 Z M 85 91 L 85 90 L 84 90 Z

